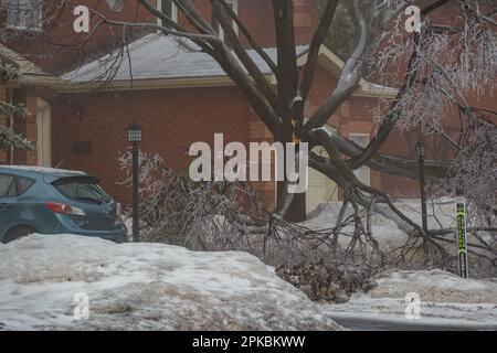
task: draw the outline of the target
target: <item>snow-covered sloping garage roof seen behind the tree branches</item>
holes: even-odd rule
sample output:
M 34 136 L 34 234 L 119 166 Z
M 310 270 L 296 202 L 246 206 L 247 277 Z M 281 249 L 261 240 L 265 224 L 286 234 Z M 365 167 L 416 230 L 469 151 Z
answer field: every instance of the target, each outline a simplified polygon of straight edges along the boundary
M 276 47 L 264 51 L 277 61 Z M 305 65 L 308 46 L 296 46 L 298 64 Z M 128 61 L 128 53 L 130 61 Z M 273 72 L 266 62 L 254 50 L 247 54 L 258 66 L 261 72 L 272 83 L 275 82 Z M 338 77 L 343 62 L 326 46 L 319 50 L 318 63 L 332 75 Z M 243 67 L 243 65 L 242 65 Z M 127 47 L 116 50 L 96 61 L 61 76 L 65 84 L 59 90 L 63 93 L 88 89 L 129 89 L 165 88 L 165 87 L 211 87 L 233 85 L 225 72 L 209 54 L 188 39 L 148 34 Z M 357 95 L 374 97 L 394 97 L 396 89 L 371 84 L 361 79 Z

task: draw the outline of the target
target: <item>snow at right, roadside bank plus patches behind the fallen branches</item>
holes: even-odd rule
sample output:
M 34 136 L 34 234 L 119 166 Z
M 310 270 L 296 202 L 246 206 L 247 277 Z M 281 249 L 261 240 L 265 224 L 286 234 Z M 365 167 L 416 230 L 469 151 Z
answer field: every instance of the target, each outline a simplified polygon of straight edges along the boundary
M 395 205 L 421 224 L 419 200 L 401 200 Z M 305 225 L 315 229 L 332 227 L 340 206 L 339 202 L 320 205 Z M 347 214 L 352 212 L 350 208 Z M 429 206 L 429 227 L 454 227 L 454 213 L 453 200 L 436 200 L 433 207 Z M 408 236 L 389 220 L 374 215 L 371 224 L 372 234 L 385 253 L 403 246 L 408 240 Z M 348 239 L 342 237 L 342 244 L 346 245 Z M 496 240 L 495 235 L 487 238 L 490 244 Z M 450 254 L 456 254 L 455 240 L 444 244 L 444 247 Z M 379 286 L 371 292 L 357 293 L 343 304 L 322 304 L 322 310 L 332 313 L 337 321 L 341 318 L 497 330 L 497 279 L 462 279 L 441 270 L 420 270 L 383 274 L 377 282 Z M 405 296 L 411 292 L 420 296 L 420 319 L 405 317 Z

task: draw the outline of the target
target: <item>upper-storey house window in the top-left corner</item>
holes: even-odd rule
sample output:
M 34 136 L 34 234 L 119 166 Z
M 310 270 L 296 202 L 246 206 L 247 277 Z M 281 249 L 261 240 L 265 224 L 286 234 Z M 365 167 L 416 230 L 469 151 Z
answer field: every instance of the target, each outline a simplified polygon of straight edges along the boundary
M 42 0 L 7 0 L 7 26 L 41 30 L 42 6 Z

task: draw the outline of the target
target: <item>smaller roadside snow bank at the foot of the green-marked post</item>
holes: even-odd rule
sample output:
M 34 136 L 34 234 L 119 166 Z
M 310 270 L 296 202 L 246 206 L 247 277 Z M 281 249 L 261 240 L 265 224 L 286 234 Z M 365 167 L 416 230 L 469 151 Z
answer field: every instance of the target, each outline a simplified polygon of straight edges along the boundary
M 326 304 L 334 318 L 402 324 L 455 325 L 497 330 L 497 280 L 463 279 L 442 270 L 394 271 L 377 279 L 368 293 L 343 304 Z M 420 298 L 420 318 L 405 315 L 408 293 Z M 412 299 L 412 297 L 410 297 Z

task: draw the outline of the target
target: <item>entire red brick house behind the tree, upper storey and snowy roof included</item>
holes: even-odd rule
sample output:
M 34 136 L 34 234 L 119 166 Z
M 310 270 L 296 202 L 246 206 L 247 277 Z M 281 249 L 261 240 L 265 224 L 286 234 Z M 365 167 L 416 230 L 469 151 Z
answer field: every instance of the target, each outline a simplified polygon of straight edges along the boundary
M 123 7 L 119 7 L 123 1 L 81 2 L 115 20 L 156 21 L 145 9 L 138 7 L 137 1 L 125 1 Z M 186 19 L 178 15 L 172 1 L 150 2 L 176 21 L 186 22 Z M 212 18 L 209 1 L 194 2 L 207 19 Z M 265 47 L 269 56 L 275 57 L 271 2 L 230 2 L 255 40 Z M 110 10 L 109 6 L 115 6 L 118 11 Z M 304 65 L 306 45 L 318 22 L 317 0 L 296 0 L 295 12 L 298 60 Z M 73 20 L 71 13 L 65 13 L 59 19 L 59 25 L 50 31 L 71 43 L 77 39 L 72 29 Z M 215 22 L 215 19 L 212 21 Z M 12 31 L 22 30 L 15 22 L 7 21 L 6 25 L 11 26 Z M 103 184 L 110 194 L 128 202 L 129 190 L 116 183 L 124 179 L 118 169 L 117 156 L 119 151 L 127 149 L 126 129 L 134 120 L 138 120 L 144 128 L 141 148 L 147 152 L 159 153 L 168 165 L 178 171 L 186 170 L 191 161 L 188 156 L 190 145 L 197 141 L 212 143 L 215 132 L 223 132 L 225 142 L 271 140 L 269 132 L 219 65 L 184 41 L 155 33 L 135 33 L 136 41 L 129 45 L 133 89 L 126 64 L 117 71 L 110 83 L 99 87 L 102 82 L 96 82 L 96 78 L 103 68 L 102 56 L 116 50 L 110 34 L 105 28 L 96 31 L 85 46 L 85 53 L 59 52 L 50 43 L 28 42 L 19 36 L 15 41 L 6 43 L 35 62 L 43 71 L 60 75 L 63 83 L 54 85 L 52 81 L 50 85 L 25 85 L 13 90 L 19 101 L 25 101 L 32 113 L 31 118 L 25 121 L 25 131 L 27 137 L 36 143 L 36 152 L 28 157 L 15 152 L 12 158 L 4 156 L 3 162 L 84 170 L 102 176 Z M 247 43 L 244 44 L 248 47 Z M 51 55 L 40 55 L 49 52 Z M 254 53 L 251 55 L 256 58 Z M 274 83 L 265 63 L 261 60 L 256 62 L 269 83 Z M 310 116 L 334 88 L 341 65 L 334 53 L 326 47 L 321 49 L 306 115 Z M 337 116 L 330 117 L 328 128 L 366 146 L 374 133 L 372 110 L 378 105 L 378 98 L 394 97 L 395 93 L 395 89 L 384 89 L 362 82 L 353 97 L 340 107 Z M 50 121 L 49 129 L 44 121 Z M 23 128 L 19 127 L 19 131 L 23 132 Z M 40 143 L 40 139 L 43 142 Z M 414 142 L 413 133 L 405 136 L 396 132 L 389 139 L 383 151 L 412 157 Z M 389 176 L 368 168 L 356 173 L 364 183 L 387 192 L 393 191 L 400 196 L 415 196 L 417 193 L 415 181 Z M 275 183 L 261 182 L 255 186 L 267 205 L 274 205 Z M 319 203 L 338 197 L 339 191 L 332 182 L 314 170 L 309 171 L 309 211 Z

